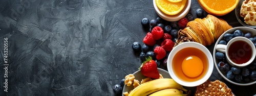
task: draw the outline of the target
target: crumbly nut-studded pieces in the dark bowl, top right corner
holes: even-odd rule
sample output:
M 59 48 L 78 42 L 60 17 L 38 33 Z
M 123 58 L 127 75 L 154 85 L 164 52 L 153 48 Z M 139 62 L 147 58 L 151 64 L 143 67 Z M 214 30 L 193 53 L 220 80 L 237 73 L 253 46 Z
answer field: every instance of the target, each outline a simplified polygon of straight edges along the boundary
M 256 26 L 256 1 L 246 0 L 240 9 L 240 16 L 244 18 L 244 22 L 250 26 Z

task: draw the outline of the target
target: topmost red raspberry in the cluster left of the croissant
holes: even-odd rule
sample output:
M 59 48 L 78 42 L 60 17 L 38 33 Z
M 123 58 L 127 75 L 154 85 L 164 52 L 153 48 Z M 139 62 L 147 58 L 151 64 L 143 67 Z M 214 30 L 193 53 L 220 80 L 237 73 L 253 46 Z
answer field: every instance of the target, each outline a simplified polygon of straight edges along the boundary
M 159 40 L 163 37 L 163 29 L 159 26 L 154 27 L 151 33 L 155 40 Z

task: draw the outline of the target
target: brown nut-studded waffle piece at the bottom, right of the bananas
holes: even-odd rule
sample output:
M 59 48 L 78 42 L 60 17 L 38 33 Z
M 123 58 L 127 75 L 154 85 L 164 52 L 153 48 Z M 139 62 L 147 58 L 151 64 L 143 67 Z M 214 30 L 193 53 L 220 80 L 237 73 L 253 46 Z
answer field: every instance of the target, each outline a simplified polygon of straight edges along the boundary
M 219 80 L 214 82 L 207 80 L 205 83 L 197 86 L 195 96 L 197 95 L 234 95 L 227 85 Z

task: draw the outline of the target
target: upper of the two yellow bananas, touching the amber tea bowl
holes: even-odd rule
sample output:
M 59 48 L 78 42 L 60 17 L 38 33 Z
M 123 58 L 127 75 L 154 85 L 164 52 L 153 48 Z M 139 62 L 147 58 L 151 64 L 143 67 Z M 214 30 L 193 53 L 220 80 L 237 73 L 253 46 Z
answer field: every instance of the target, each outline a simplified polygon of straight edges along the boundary
M 146 83 L 139 85 L 129 93 L 129 96 L 136 96 L 136 95 L 143 96 L 159 90 L 169 89 L 169 88 L 175 88 L 178 90 L 183 90 L 185 92 L 187 91 L 187 89 L 183 88 L 182 85 L 178 84 L 173 79 L 163 78 L 163 79 L 155 79 L 152 81 L 148 81 Z

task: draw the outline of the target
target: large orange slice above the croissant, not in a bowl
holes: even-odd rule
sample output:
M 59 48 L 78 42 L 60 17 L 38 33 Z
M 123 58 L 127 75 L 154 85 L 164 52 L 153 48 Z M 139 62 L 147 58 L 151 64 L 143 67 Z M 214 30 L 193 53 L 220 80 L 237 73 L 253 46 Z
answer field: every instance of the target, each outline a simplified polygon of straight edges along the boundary
M 239 0 L 198 0 L 200 6 L 209 14 L 226 15 L 238 5 Z

